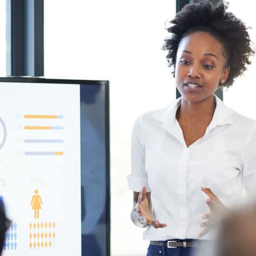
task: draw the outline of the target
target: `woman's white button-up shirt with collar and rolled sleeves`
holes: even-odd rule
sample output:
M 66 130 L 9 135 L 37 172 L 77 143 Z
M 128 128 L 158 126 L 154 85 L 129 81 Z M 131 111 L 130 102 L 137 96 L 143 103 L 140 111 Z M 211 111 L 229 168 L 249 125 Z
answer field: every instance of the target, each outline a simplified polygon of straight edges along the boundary
M 131 140 L 129 188 L 151 191 L 154 219 L 167 227 L 147 227 L 144 239 L 196 239 L 210 212 L 200 187 L 209 187 L 226 206 L 241 203 L 243 189 L 256 191 L 256 122 L 227 108 L 217 97 L 204 136 L 189 147 L 176 119 L 181 98 L 140 116 Z M 202 239 L 212 239 L 213 231 Z

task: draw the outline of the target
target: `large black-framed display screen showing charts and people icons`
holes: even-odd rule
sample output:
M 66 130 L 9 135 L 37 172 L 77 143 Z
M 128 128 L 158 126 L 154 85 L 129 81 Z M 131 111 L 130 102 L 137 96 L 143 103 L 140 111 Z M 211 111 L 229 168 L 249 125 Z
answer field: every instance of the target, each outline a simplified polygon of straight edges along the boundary
M 110 255 L 108 81 L 0 78 L 3 255 Z

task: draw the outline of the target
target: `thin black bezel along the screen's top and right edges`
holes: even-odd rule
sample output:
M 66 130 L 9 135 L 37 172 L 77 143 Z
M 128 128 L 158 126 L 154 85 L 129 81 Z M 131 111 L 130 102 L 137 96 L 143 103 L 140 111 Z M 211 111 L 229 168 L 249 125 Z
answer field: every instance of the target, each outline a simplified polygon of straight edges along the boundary
M 109 141 L 109 81 L 50 79 L 38 77 L 0 77 L 0 82 L 15 83 L 67 83 L 105 87 L 105 148 L 106 148 L 106 256 L 110 256 L 110 141 Z M 82 236 L 82 234 L 81 234 Z M 82 251 L 81 251 L 82 252 Z

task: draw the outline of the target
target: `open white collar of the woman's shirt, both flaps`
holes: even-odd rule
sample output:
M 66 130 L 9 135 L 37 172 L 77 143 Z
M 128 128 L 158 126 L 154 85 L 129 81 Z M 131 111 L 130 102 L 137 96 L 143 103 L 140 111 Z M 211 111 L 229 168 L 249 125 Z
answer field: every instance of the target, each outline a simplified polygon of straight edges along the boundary
M 207 127 L 207 130 L 214 129 L 216 126 L 222 126 L 227 124 L 233 124 L 232 110 L 229 109 L 224 103 L 214 95 L 216 99 L 216 108 L 213 114 L 212 121 Z M 176 122 L 176 112 L 178 107 L 181 105 L 181 97 L 176 99 L 170 104 L 164 111 L 158 111 L 153 116 L 158 121 L 163 122 L 165 128 L 172 127 Z

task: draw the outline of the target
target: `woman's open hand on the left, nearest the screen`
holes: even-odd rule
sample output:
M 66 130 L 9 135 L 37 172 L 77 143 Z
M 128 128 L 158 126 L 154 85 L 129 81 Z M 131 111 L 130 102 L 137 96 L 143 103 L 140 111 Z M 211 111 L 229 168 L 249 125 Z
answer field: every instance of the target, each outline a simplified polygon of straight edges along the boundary
M 142 217 L 142 219 L 144 219 L 144 221 L 147 223 L 148 226 L 153 225 L 156 229 L 158 229 L 159 227 L 166 227 L 167 224 L 160 223 L 159 221 L 154 220 L 153 215 L 151 214 L 149 209 L 146 193 L 147 193 L 147 189 L 144 186 L 139 193 L 138 203 L 134 206 L 136 207 L 139 213 L 139 216 Z

